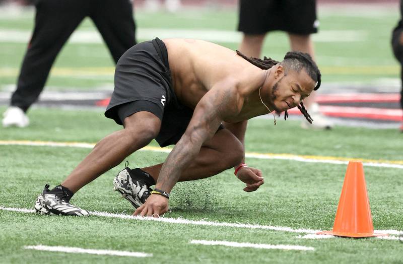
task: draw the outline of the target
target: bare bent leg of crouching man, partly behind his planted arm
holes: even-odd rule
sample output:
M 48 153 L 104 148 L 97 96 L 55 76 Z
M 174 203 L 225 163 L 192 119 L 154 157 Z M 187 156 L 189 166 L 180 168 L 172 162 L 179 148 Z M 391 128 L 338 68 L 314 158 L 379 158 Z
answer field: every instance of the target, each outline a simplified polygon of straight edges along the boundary
M 241 142 L 228 130 L 220 129 L 200 149 L 197 158 L 183 171 L 179 181 L 208 178 L 238 165 L 243 158 Z M 143 168 L 155 181 L 162 167 L 157 164 Z

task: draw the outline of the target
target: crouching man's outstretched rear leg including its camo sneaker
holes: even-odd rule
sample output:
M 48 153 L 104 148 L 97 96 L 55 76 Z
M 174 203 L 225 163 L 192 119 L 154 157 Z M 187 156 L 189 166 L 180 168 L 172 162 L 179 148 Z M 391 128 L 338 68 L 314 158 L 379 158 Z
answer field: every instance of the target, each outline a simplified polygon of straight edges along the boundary
M 88 211 L 70 204 L 74 192 L 150 143 L 158 135 L 160 126 L 160 119 L 150 112 L 137 112 L 126 117 L 124 128 L 101 140 L 61 185 L 52 190 L 45 185 L 35 202 L 36 212 L 88 216 Z

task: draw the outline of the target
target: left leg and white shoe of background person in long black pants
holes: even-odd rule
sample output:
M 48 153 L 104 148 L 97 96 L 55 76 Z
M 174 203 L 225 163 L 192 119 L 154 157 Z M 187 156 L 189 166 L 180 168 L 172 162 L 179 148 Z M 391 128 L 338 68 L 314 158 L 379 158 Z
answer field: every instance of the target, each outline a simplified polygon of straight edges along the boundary
M 35 27 L 22 63 L 17 89 L 4 113 L 3 126 L 29 124 L 26 112 L 43 90 L 50 68 L 64 43 L 86 17 L 88 1 L 42 0 L 36 6 Z

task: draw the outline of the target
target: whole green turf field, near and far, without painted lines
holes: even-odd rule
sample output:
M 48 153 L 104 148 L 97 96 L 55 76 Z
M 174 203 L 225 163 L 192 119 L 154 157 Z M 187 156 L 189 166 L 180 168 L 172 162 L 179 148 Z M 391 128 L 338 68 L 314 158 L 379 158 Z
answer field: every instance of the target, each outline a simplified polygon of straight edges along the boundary
M 30 32 L 33 10 L 0 14 L 0 30 Z M 388 6 L 319 6 L 320 30 L 357 31 L 361 41 L 315 42 L 323 73 L 330 84 L 376 85 L 396 80 L 399 68 L 389 37 L 398 10 Z M 186 10 L 176 14 L 136 10 L 139 28 L 235 30 L 235 10 Z M 95 30 L 85 20 L 79 30 Z M 320 34 L 320 33 L 319 33 Z M 139 39 L 142 41 L 143 39 Z M 219 43 L 231 49 L 237 44 Z M 0 42 L 0 89 L 15 85 L 26 43 Z M 288 50 L 283 33 L 270 34 L 263 53 L 281 59 Z M 113 62 L 103 44 L 67 44 L 54 65 L 46 90 L 113 89 Z M 0 106 L 4 112 L 6 106 Z M 103 109 L 33 107 L 31 125 L 0 128 L 0 141 L 29 140 L 96 143 L 120 129 Z M 246 151 L 257 153 L 331 156 L 347 159 L 403 161 L 403 140 L 396 129 L 337 126 L 331 131 L 300 128 L 300 121 L 252 119 Z M 151 146 L 157 146 L 155 142 Z M 45 183 L 51 187 L 89 153 L 90 149 L 0 145 L 0 206 L 33 209 Z M 167 154 L 139 151 L 126 160 L 130 167 L 163 162 Z M 343 185 L 346 165 L 287 160 L 247 159 L 262 170 L 265 183 L 258 191 L 242 191 L 243 183 L 228 170 L 209 179 L 181 182 L 172 191 L 171 213 L 165 217 L 229 223 L 250 223 L 330 230 Z M 112 179 L 123 163 L 77 192 L 72 203 L 90 211 L 131 214 L 132 206 L 112 191 Z M 403 230 L 403 170 L 365 166 L 373 224 L 378 230 Z M 302 239 L 304 234 L 158 223 L 90 216 L 40 216 L 0 210 L 0 262 L 4 263 L 401 263 L 403 244 L 377 238 Z M 192 239 L 312 246 L 314 251 L 263 250 L 189 244 Z M 25 245 L 71 246 L 142 251 L 150 258 L 69 254 L 24 249 Z

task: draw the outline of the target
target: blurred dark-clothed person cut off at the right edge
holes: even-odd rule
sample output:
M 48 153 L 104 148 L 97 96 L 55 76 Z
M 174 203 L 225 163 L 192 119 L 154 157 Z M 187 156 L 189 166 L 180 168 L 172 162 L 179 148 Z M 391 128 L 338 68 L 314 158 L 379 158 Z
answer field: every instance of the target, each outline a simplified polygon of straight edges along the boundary
M 400 62 L 400 78 L 402 88 L 400 90 L 400 107 L 403 109 L 403 3 L 400 1 L 400 20 L 392 31 L 392 49 L 396 59 Z M 400 125 L 403 133 L 403 120 Z

